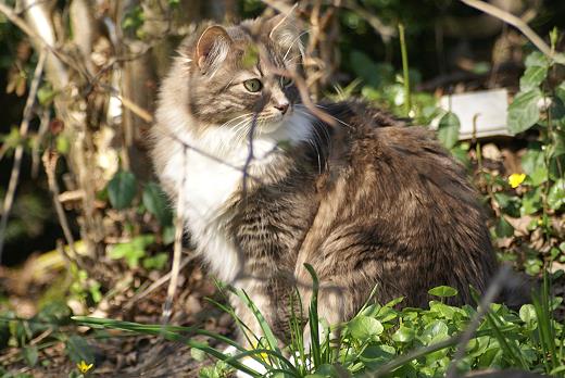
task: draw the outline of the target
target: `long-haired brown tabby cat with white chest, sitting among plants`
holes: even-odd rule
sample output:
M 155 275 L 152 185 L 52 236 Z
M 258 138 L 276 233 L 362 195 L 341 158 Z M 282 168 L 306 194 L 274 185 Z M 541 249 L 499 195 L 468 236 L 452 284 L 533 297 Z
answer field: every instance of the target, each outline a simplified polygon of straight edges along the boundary
M 281 340 L 293 288 L 311 295 L 304 263 L 330 324 L 375 286 L 380 302 L 426 305 L 439 285 L 469 302 L 497 262 L 464 169 L 427 129 L 361 102 L 319 104 L 334 125 L 314 116 L 282 74 L 299 71 L 299 46 L 281 16 L 210 26 L 181 43 L 162 84 L 154 165 L 211 272 L 243 289 Z

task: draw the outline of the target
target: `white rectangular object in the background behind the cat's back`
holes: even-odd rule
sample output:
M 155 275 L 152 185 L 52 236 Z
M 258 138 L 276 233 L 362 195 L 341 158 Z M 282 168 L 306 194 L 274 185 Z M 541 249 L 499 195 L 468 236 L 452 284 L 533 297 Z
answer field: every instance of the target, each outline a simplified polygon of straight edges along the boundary
M 440 108 L 457 115 L 461 122 L 460 140 L 511 135 L 506 128 L 506 89 L 443 96 Z M 437 128 L 437 124 L 434 126 Z

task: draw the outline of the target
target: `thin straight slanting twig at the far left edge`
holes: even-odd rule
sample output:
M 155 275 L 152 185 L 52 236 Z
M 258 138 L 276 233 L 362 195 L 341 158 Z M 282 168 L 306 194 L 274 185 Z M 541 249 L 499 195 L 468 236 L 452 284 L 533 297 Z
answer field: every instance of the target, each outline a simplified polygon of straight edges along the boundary
M 47 53 L 46 50 L 42 49 L 39 52 L 39 60 L 37 62 L 34 79 L 32 80 L 32 86 L 29 87 L 29 93 L 27 94 L 27 100 L 24 108 L 24 118 L 20 124 L 20 137 L 25 139 L 27 136 L 27 130 L 29 129 L 29 121 L 33 115 L 33 108 L 35 103 L 35 99 L 37 96 L 37 89 L 39 88 L 39 83 L 41 81 L 41 75 L 43 73 L 43 66 L 46 63 Z M 2 206 L 2 218 L 0 219 L 0 262 L 2 261 L 2 251 L 4 247 L 4 238 L 5 238 L 5 227 L 8 225 L 8 218 L 10 217 L 10 212 L 12 210 L 12 204 L 14 202 L 15 190 L 17 188 L 17 181 L 20 179 L 20 172 L 22 169 L 22 156 L 24 154 L 24 144 L 20 143 L 15 148 L 14 152 L 14 165 L 12 166 L 12 173 L 10 176 L 10 182 L 8 184 L 8 191 L 4 197 L 4 203 Z

